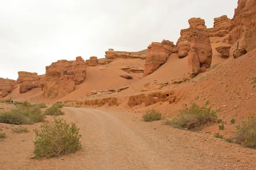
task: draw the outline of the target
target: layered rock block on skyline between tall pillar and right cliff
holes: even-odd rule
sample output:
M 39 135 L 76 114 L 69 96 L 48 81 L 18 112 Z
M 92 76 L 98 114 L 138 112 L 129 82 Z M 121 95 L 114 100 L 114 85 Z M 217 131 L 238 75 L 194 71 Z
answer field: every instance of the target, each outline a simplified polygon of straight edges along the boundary
M 214 18 L 213 28 L 208 28 L 210 37 L 224 37 L 229 33 L 231 19 L 227 15 Z

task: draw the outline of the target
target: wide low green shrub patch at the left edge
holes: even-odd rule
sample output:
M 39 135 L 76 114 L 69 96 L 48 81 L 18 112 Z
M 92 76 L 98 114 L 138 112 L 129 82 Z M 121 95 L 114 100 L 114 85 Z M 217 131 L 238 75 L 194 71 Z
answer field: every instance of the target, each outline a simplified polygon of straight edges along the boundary
M 43 122 L 44 118 L 45 115 L 41 113 L 40 108 L 18 105 L 16 109 L 12 109 L 11 111 L 1 113 L 0 123 L 25 125 Z

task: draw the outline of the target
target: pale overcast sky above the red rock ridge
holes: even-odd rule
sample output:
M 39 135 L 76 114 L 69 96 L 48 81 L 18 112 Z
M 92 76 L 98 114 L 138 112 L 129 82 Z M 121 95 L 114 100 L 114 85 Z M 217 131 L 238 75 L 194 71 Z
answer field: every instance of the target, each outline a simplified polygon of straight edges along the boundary
M 237 0 L 0 0 L 0 77 L 45 74 L 45 66 L 105 51 L 141 51 L 163 39 L 177 42 L 188 20 L 207 28 L 233 18 Z

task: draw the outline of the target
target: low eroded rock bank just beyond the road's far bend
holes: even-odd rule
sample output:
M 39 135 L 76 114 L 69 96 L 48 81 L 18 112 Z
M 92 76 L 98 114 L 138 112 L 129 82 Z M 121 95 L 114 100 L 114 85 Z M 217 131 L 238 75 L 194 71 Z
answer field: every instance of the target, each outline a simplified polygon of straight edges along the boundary
M 64 103 L 75 103 L 76 105 L 98 105 L 99 107 L 105 105 L 108 103 L 108 106 L 113 106 L 113 105 L 120 105 L 121 101 L 117 99 L 116 97 L 106 97 L 106 98 L 97 98 L 97 99 L 91 99 L 91 100 L 85 100 L 85 101 L 77 101 L 77 100 L 68 100 L 65 101 Z

